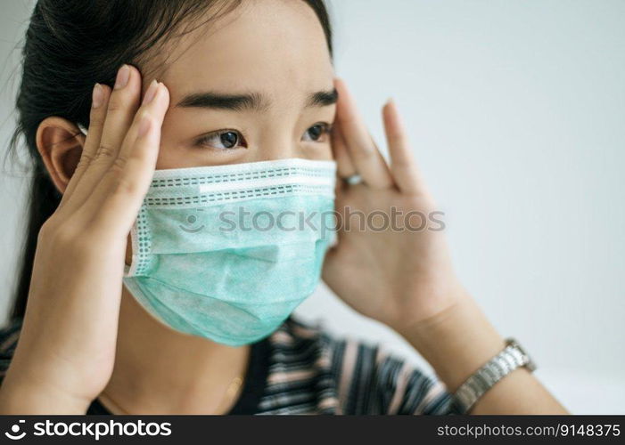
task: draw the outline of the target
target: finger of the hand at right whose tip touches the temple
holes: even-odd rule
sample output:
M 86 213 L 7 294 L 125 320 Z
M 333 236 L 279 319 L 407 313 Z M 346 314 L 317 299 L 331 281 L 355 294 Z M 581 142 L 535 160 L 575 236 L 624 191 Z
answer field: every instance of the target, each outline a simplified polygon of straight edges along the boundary
M 371 187 L 379 189 L 391 187 L 393 182 L 389 167 L 358 114 L 347 85 L 340 78 L 336 78 L 335 87 L 339 93 L 336 104 L 337 119 L 358 174 Z

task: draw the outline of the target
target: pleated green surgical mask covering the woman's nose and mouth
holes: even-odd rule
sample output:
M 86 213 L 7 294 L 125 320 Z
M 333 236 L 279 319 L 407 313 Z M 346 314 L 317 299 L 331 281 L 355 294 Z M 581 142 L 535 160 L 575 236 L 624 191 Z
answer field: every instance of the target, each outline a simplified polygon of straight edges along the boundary
M 306 159 L 157 170 L 125 286 L 179 332 L 233 346 L 268 336 L 317 287 L 335 171 Z

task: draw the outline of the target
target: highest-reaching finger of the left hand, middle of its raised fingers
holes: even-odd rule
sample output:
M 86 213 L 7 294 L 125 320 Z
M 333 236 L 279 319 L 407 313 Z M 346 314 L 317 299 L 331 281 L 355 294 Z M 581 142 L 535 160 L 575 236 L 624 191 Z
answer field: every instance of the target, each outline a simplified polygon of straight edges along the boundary
M 95 157 L 86 167 L 80 187 L 74 192 L 74 199 L 80 205 L 85 204 L 95 186 L 102 180 L 103 174 L 117 158 L 121 143 L 139 107 L 140 96 L 141 74 L 135 67 L 122 66 L 108 102 L 102 137 L 95 150 Z

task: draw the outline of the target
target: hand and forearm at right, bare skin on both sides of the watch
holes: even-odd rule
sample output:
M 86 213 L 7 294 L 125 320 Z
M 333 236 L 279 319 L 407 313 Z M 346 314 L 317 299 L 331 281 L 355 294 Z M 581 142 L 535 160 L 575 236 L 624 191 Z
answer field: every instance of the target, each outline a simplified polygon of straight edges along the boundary
M 335 83 L 340 96 L 333 131 L 338 174 L 359 174 L 363 182 L 337 185 L 336 210 L 343 215 L 343 227 L 339 244 L 327 252 L 324 280 L 352 308 L 404 336 L 448 391 L 455 392 L 501 352 L 504 338 L 456 278 L 436 223 L 440 215 L 431 217 L 437 208 L 417 171 L 394 103 L 382 111 L 391 155 L 387 166 L 346 86 L 338 79 Z M 409 212 L 425 215 L 433 230 L 405 227 Z M 344 223 L 350 214 L 347 231 Z M 369 216 L 364 231 L 358 227 L 359 214 Z M 414 220 L 418 228 L 418 216 Z M 472 413 L 568 414 L 530 372 L 521 370 L 491 388 Z

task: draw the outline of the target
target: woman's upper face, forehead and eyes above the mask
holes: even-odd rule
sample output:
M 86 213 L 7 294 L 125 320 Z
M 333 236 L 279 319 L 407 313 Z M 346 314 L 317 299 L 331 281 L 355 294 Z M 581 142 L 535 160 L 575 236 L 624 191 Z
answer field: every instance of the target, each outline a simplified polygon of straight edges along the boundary
M 206 27 L 172 45 L 158 77 L 170 106 L 157 168 L 332 159 L 333 66 L 308 4 L 246 1 Z

